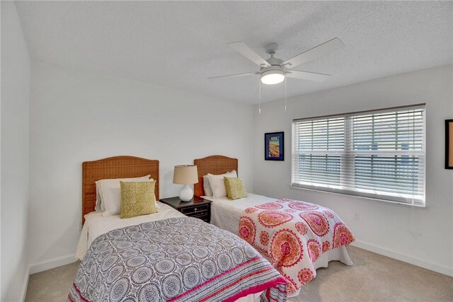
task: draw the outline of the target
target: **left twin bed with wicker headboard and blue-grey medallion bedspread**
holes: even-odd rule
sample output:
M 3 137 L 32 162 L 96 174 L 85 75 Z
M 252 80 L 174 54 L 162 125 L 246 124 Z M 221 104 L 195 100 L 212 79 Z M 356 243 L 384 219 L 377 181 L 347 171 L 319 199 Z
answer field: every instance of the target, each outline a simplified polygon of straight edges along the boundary
M 286 281 L 238 236 L 159 203 L 120 219 L 95 211 L 96 181 L 151 175 L 159 161 L 117 156 L 82 165 L 81 265 L 68 301 L 285 301 Z

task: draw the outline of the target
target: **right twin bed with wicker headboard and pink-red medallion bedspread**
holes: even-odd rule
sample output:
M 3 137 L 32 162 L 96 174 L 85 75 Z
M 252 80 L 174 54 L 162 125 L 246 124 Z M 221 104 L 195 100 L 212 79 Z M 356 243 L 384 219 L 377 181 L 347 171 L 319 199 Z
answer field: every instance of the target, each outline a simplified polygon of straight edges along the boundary
M 328 267 L 328 262 L 352 265 L 346 246 L 354 237 L 331 209 L 250 193 L 236 200 L 205 196 L 203 176 L 237 173 L 238 160 L 208 156 L 194 164 L 198 170 L 194 194 L 212 201 L 211 223 L 239 234 L 264 255 L 287 280 L 289 297 L 299 295 L 300 288 L 316 277 L 316 269 Z

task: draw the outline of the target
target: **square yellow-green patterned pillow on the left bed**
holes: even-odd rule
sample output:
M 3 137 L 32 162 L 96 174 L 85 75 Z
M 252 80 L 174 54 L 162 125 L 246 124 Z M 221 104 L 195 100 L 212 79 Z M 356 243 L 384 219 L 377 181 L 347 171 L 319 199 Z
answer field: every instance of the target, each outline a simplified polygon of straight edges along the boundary
M 154 186 L 156 180 L 146 182 L 120 182 L 121 213 L 120 218 L 156 213 Z

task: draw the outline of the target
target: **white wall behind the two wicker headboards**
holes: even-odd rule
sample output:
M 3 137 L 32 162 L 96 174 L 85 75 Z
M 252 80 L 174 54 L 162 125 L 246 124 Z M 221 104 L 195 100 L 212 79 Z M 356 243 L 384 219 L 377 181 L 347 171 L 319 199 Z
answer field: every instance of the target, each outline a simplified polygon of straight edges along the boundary
M 239 174 L 253 190 L 251 105 L 44 63 L 33 65 L 31 94 L 32 265 L 75 252 L 83 161 L 158 159 L 162 198 L 180 190 L 174 165 L 224 154 L 239 158 Z M 32 272 L 39 267 L 50 266 Z

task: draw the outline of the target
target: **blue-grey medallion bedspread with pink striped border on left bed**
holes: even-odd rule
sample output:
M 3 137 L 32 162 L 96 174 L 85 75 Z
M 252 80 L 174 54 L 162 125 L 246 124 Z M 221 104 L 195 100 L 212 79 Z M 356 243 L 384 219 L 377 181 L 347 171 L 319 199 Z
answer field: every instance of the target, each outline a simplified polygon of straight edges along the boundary
M 260 291 L 261 301 L 286 301 L 285 289 L 285 279 L 244 240 L 178 217 L 96 238 L 68 301 L 235 301 Z

